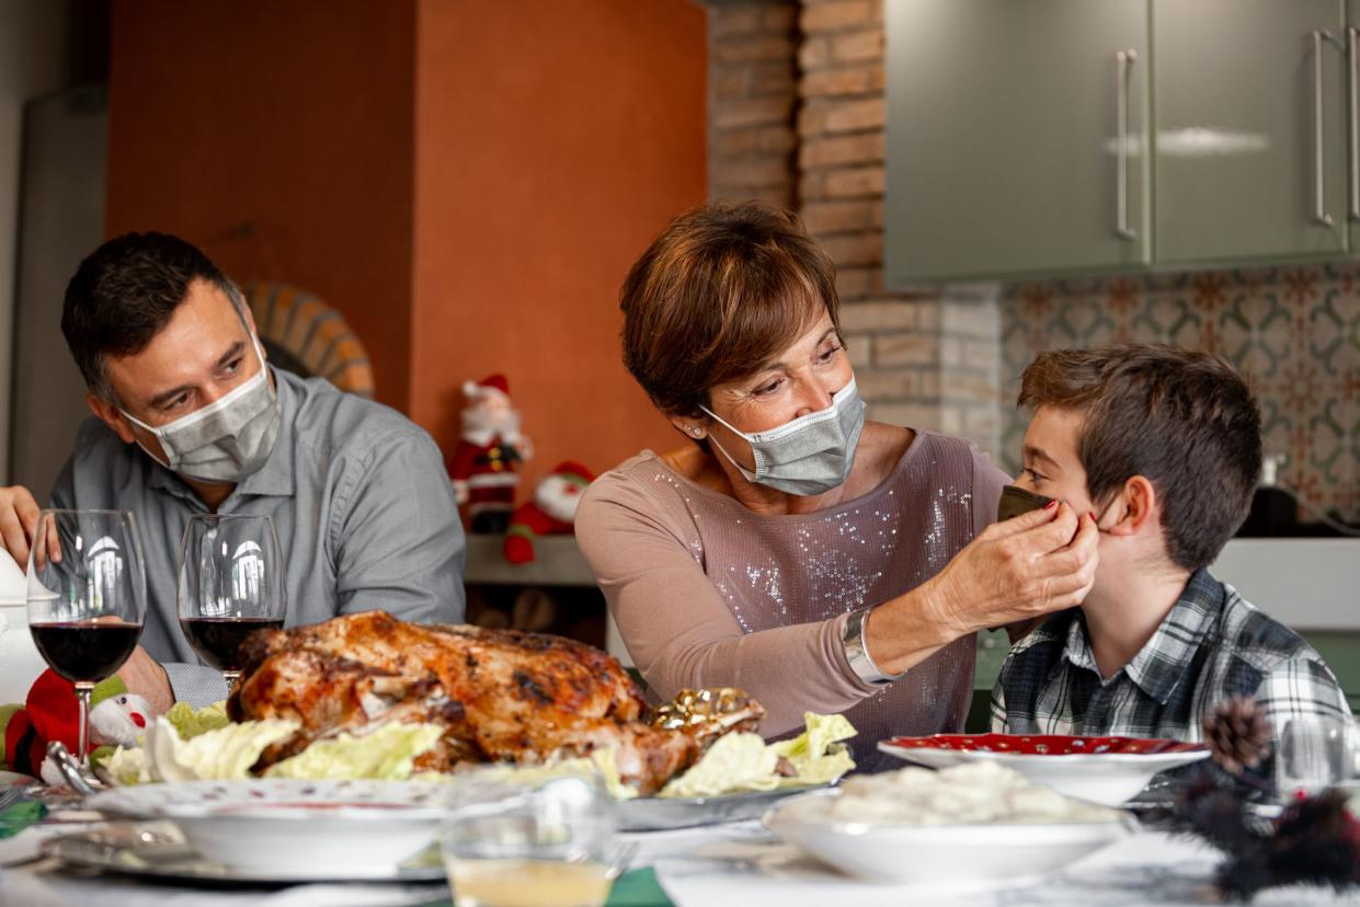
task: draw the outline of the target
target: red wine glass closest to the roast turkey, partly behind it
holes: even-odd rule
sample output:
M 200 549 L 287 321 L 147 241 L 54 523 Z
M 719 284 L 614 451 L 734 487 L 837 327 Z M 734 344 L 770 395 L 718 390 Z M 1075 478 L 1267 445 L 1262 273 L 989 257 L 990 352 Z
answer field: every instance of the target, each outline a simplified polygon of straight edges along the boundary
M 283 627 L 279 537 L 269 517 L 194 514 L 180 545 L 180 628 L 209 666 L 234 684 L 241 643 Z

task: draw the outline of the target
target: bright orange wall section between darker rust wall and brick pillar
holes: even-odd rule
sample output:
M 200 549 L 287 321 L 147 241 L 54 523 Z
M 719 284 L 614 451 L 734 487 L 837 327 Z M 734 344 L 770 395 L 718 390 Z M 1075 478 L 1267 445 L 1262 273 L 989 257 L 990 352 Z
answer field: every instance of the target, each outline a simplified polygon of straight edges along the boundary
M 537 454 L 607 469 L 679 435 L 623 370 L 619 286 L 704 199 L 691 0 L 420 0 L 412 416 L 452 449 L 460 385 L 510 378 Z

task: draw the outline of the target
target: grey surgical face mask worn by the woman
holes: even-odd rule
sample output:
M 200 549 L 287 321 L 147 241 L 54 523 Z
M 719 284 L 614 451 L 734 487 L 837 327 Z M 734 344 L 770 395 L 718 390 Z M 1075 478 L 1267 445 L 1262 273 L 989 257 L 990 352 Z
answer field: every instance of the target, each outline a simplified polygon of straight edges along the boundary
M 864 431 L 864 401 L 850 383 L 831 397 L 831 405 L 817 412 L 798 416 L 793 422 L 747 434 L 733 428 L 707 407 L 706 413 L 726 426 L 751 445 L 756 468 L 752 472 L 732 458 L 711 435 L 709 441 L 747 477 L 789 495 L 820 495 L 845 483 L 854 465 L 854 451 Z

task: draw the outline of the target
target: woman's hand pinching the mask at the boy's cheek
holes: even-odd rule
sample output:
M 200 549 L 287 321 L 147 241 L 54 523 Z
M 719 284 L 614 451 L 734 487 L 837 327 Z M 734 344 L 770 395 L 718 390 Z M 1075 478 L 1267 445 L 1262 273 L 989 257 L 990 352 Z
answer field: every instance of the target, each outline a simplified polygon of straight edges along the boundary
M 1065 502 L 993 524 L 921 589 L 951 638 L 1080 605 L 1096 577 L 1099 533 Z

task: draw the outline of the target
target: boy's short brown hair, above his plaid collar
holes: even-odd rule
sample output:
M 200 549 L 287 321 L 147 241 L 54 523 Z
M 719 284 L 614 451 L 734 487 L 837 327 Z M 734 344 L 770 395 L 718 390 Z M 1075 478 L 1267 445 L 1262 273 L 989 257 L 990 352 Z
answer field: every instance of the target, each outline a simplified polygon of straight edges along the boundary
M 1098 506 L 1133 476 L 1152 481 L 1167 555 L 1185 570 L 1213 563 L 1251 509 L 1261 411 L 1242 375 L 1213 354 L 1054 349 L 1024 370 L 1017 403 L 1083 415 L 1077 454 Z

